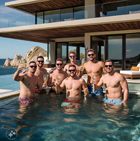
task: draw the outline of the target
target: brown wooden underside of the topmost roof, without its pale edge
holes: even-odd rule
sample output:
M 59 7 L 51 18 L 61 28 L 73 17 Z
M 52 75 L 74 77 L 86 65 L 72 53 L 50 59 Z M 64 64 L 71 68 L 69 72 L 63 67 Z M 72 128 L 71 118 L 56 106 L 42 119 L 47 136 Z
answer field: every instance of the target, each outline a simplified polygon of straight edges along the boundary
M 32 3 L 32 4 L 22 4 L 17 6 L 11 6 L 12 8 L 25 11 L 27 13 L 36 13 L 46 10 L 74 7 L 74 6 L 83 6 L 84 0 L 50 0 Z

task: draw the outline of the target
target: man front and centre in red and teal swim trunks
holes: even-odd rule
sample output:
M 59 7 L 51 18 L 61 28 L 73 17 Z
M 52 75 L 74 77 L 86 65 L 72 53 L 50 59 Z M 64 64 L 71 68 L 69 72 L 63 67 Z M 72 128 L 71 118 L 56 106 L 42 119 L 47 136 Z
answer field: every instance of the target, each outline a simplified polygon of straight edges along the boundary
M 76 66 L 70 65 L 69 66 L 69 73 L 70 77 L 64 79 L 64 81 L 59 85 L 56 81 L 56 92 L 60 92 L 66 87 L 66 99 L 65 102 L 81 102 L 81 91 L 82 88 L 85 92 L 85 97 L 88 96 L 87 84 L 84 79 L 78 77 L 76 75 Z

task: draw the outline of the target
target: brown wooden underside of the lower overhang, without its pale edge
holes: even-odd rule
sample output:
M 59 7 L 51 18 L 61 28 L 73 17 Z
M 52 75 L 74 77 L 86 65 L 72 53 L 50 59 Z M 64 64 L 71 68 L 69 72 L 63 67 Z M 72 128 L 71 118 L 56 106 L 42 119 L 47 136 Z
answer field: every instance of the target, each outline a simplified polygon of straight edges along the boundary
M 47 43 L 54 38 L 84 37 L 89 32 L 140 29 L 140 21 L 0 33 L 0 37 Z

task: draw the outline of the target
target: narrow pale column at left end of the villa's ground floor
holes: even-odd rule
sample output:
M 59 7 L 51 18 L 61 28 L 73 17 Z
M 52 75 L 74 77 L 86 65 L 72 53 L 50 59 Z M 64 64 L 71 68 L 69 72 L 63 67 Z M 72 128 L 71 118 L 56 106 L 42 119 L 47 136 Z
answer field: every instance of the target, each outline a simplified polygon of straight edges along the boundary
M 49 60 L 51 61 L 51 64 L 55 64 L 55 42 L 49 42 L 49 45 Z

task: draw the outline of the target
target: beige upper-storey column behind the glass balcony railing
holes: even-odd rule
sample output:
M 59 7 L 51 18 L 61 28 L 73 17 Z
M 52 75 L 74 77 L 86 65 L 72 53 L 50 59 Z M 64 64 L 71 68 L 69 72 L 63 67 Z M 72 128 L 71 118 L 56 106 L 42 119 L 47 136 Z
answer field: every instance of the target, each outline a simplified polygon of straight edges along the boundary
M 85 19 L 96 17 L 95 0 L 85 0 Z

